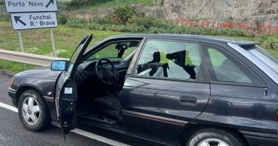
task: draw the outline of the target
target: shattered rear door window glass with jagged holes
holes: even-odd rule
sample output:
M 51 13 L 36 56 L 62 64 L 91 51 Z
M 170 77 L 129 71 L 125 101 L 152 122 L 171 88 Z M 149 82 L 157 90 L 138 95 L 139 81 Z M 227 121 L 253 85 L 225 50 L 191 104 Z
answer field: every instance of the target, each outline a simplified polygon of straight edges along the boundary
M 148 40 L 140 56 L 136 75 L 197 80 L 200 66 L 197 44 Z

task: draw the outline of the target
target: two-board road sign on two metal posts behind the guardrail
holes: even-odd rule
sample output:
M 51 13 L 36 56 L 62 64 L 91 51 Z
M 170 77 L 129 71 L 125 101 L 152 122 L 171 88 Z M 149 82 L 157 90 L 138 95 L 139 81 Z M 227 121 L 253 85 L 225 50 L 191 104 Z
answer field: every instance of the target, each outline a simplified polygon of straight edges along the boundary
M 52 29 L 58 26 L 56 0 L 5 0 L 12 27 L 18 31 L 19 47 L 24 51 L 20 30 L 49 28 L 53 56 L 56 56 Z

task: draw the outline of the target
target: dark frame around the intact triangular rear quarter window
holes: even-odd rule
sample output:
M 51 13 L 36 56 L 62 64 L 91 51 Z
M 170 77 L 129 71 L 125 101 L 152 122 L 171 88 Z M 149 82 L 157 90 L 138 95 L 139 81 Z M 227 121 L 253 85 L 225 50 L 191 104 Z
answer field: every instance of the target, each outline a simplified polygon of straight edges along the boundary
M 239 56 L 235 56 L 231 51 L 229 51 L 229 49 L 227 47 L 224 47 L 224 46 L 220 46 L 218 44 L 210 44 L 210 43 L 200 43 L 200 49 L 201 49 L 201 54 L 204 58 L 204 70 L 208 76 L 208 80 L 210 83 L 213 83 L 213 84 L 220 84 L 220 85 L 231 85 L 231 86 L 252 86 L 252 87 L 263 87 L 263 88 L 266 88 L 266 83 L 263 81 L 263 79 L 261 79 L 261 77 L 256 74 L 256 72 L 254 72 L 254 70 L 252 70 L 251 67 L 249 67 L 248 65 L 246 65 L 245 63 L 243 63 L 243 60 L 240 59 Z M 231 82 L 231 81 L 213 81 L 211 79 L 211 74 L 214 74 L 213 72 L 211 72 L 208 67 L 210 67 L 211 69 L 213 68 L 212 66 L 212 63 L 211 63 L 211 58 L 209 58 L 209 56 L 206 56 L 206 50 L 207 48 L 204 48 L 203 46 L 208 46 L 208 47 L 212 47 L 211 49 L 215 49 L 216 51 L 219 51 L 221 54 L 223 54 L 224 56 L 226 56 L 227 58 L 231 58 L 232 62 L 234 63 L 233 60 L 236 60 L 236 62 L 245 68 L 245 70 L 247 70 L 247 72 L 249 74 L 251 74 L 251 78 L 250 80 L 252 81 L 252 83 L 240 83 L 240 82 Z M 208 55 L 208 54 L 207 54 Z M 207 62 L 207 60 L 209 62 Z M 236 65 L 237 66 L 237 65 Z M 240 67 L 239 67 L 240 69 Z M 213 69 L 212 69 L 213 70 Z M 245 74 L 245 72 L 243 72 L 243 74 Z M 215 74 L 214 74 L 215 75 Z M 248 77 L 250 77 L 248 76 Z M 253 83 L 253 81 L 255 81 Z

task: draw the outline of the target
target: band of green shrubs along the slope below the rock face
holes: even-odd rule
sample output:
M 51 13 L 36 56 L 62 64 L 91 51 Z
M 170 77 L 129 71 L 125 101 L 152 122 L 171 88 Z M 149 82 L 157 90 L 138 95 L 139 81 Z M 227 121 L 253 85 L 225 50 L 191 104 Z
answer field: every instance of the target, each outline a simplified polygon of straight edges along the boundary
M 202 26 L 179 26 L 173 22 L 146 17 L 144 13 L 136 12 L 132 6 L 116 6 L 115 13 L 107 17 L 76 18 L 65 16 L 66 25 L 74 28 L 97 31 L 120 31 L 129 33 L 180 33 L 197 35 L 225 35 L 250 37 L 247 31 L 240 29 L 220 29 Z M 63 13 L 60 15 L 67 15 Z M 65 22 L 65 21 L 64 21 Z

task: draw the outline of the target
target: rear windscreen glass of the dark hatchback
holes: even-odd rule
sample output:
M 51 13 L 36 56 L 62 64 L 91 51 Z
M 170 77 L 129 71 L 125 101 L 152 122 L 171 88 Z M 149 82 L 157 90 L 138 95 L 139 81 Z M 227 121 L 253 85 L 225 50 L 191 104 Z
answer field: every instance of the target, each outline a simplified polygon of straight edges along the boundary
M 247 47 L 245 49 L 278 74 L 278 60 L 274 56 L 268 54 L 268 51 L 258 46 Z

